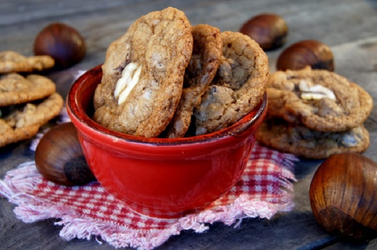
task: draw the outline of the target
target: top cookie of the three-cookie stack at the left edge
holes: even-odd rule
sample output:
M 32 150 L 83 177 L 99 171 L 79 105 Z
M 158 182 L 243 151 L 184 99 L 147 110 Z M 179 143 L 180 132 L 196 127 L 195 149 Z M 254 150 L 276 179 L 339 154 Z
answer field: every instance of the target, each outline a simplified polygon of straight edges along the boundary
M 41 71 L 54 65 L 54 59 L 48 55 L 24 56 L 14 51 L 0 52 L 0 74 Z

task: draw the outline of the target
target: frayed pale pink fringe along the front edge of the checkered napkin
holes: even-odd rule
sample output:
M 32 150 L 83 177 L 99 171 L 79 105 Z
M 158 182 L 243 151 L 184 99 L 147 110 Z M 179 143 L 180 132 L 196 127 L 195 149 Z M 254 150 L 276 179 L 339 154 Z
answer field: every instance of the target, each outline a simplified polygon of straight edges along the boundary
M 4 181 L 0 180 L 0 194 L 18 205 L 14 209 L 18 219 L 28 223 L 48 218 L 59 219 L 55 224 L 62 226 L 60 237 L 66 240 L 73 238 L 90 240 L 96 237 L 97 242 L 101 243 L 97 238 L 100 236 L 102 241 L 116 248 L 130 246 L 149 250 L 163 244 L 171 236 L 179 235 L 182 230 L 202 233 L 208 230 L 208 224 L 214 222 L 223 222 L 237 227 L 245 218 L 270 219 L 276 213 L 288 212 L 294 207 L 294 203 L 289 199 L 280 200 L 281 203 L 272 203 L 252 199 L 249 195 L 241 195 L 231 205 L 218 206 L 216 210 L 208 209 L 198 214 L 187 215 L 163 230 L 134 230 L 110 221 L 77 218 L 77 214 L 73 213 L 68 206 L 49 204 L 27 194 L 27 191 L 36 184 L 34 177 L 38 172 L 33 166 L 33 162 L 22 164 L 19 168 L 9 171 Z M 285 174 L 285 177 L 281 178 L 282 180 L 287 178 L 282 182 L 282 186 L 291 190 L 292 183 L 289 179 L 293 177 Z M 284 190 L 282 192 L 286 193 Z

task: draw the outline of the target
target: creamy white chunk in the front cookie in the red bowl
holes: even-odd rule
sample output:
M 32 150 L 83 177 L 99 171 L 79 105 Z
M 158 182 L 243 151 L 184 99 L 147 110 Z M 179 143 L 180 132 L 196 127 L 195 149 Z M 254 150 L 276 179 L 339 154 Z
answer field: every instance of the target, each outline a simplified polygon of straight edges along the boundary
M 140 79 L 141 65 L 129 63 L 122 71 L 122 76 L 116 82 L 114 96 L 118 97 L 118 105 L 127 99 L 131 90 L 136 86 Z

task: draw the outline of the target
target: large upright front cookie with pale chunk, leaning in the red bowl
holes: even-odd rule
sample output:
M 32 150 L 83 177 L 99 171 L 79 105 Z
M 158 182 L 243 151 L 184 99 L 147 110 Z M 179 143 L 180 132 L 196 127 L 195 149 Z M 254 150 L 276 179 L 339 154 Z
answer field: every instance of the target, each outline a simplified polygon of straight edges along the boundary
M 193 50 L 191 24 L 175 8 L 150 12 L 109 46 L 94 94 L 94 120 L 157 137 L 172 119 Z

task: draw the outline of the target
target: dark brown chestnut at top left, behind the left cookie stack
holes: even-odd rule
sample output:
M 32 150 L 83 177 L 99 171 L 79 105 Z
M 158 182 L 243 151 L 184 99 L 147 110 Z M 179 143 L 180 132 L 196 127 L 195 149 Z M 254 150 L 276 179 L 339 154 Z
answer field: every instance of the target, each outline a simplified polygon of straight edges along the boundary
M 51 56 L 57 69 L 77 64 L 85 56 L 86 50 L 87 46 L 81 34 L 62 23 L 46 26 L 34 41 L 34 54 Z

